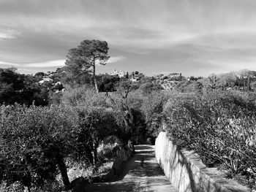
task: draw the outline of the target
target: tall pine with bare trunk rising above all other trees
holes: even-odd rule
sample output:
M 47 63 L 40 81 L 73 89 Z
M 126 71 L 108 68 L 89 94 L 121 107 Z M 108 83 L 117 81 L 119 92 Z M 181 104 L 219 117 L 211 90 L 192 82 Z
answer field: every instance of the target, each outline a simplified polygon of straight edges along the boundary
M 79 75 L 92 72 L 94 85 L 97 92 L 98 86 L 95 75 L 96 64 L 105 65 L 108 61 L 108 43 L 99 40 L 84 40 L 78 48 L 72 48 L 67 53 L 66 66 L 72 74 Z

